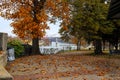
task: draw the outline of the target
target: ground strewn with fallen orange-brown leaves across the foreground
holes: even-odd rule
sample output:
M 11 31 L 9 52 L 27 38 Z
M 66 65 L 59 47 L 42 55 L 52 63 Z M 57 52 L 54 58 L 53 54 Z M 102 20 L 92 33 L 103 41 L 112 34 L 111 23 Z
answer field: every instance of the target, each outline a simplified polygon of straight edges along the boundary
M 120 80 L 120 59 L 83 53 L 22 57 L 6 69 L 14 80 Z

